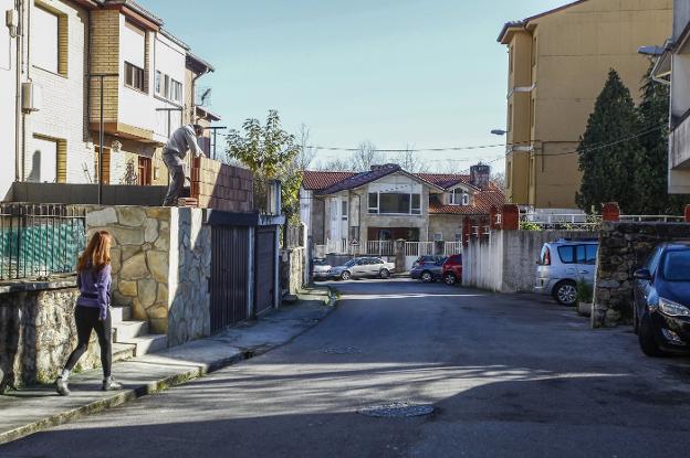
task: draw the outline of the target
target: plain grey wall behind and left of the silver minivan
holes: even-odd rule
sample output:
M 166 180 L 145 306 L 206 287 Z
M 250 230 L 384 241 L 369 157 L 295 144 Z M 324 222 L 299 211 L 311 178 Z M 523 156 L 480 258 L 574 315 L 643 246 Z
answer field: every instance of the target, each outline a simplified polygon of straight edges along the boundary
M 544 243 L 590 236 L 575 231 L 491 231 L 463 248 L 462 283 L 500 292 L 532 291 Z

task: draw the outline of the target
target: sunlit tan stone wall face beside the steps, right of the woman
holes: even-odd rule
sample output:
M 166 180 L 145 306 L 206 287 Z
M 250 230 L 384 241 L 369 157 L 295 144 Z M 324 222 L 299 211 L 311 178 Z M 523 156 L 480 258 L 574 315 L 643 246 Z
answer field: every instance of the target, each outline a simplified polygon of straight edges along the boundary
M 177 209 L 176 209 L 177 210 Z M 87 236 L 113 234 L 113 305 L 130 306 L 154 333 L 168 332 L 171 209 L 108 206 L 86 213 Z

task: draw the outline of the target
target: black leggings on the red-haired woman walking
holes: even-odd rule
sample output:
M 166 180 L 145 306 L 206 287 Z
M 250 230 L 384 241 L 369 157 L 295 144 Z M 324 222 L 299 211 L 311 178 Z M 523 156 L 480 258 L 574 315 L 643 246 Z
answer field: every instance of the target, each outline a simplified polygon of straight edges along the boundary
M 76 349 L 67 358 L 65 369 L 71 371 L 76 365 L 76 362 L 82 358 L 86 349 L 88 349 L 88 340 L 91 340 L 91 331 L 96 330 L 98 335 L 98 344 L 101 345 L 101 364 L 103 365 L 103 376 L 111 376 L 111 365 L 113 363 L 113 345 L 112 345 L 112 322 L 111 311 L 108 310 L 105 320 L 98 319 L 101 309 L 97 307 L 84 307 L 76 306 L 74 309 L 74 320 L 76 321 L 76 335 L 79 337 L 79 343 Z

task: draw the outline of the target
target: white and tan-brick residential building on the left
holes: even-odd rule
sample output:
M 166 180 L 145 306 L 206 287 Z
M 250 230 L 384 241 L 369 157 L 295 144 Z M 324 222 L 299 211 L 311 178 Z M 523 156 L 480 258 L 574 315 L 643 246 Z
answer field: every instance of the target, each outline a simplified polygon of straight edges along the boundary
M 100 158 L 105 184 L 167 184 L 161 148 L 212 67 L 132 0 L 0 1 L 2 196 L 14 181 L 97 183 Z

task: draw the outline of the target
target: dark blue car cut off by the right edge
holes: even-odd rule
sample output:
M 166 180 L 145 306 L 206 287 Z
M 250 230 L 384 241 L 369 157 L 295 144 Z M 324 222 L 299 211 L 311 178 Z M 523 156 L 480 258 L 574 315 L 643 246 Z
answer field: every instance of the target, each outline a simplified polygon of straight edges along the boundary
M 690 352 L 690 242 L 663 243 L 635 271 L 632 321 L 642 352 Z

